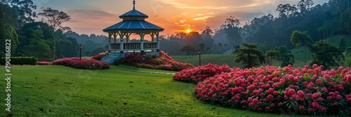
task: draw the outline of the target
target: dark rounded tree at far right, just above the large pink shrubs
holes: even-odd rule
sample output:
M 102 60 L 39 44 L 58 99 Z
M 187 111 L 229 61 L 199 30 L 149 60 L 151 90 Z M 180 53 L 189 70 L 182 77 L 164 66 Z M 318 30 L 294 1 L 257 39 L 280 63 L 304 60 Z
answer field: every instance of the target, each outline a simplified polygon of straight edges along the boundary
M 320 40 L 317 45 L 311 48 L 311 52 L 315 55 L 311 65 L 323 65 L 324 69 L 339 66 L 337 61 L 345 61 L 343 50 L 334 47 L 325 40 Z

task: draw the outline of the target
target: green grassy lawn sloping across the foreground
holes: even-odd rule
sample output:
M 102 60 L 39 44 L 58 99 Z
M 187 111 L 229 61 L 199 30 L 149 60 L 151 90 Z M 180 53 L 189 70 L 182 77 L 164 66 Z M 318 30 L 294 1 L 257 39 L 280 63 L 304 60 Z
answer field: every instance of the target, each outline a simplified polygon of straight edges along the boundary
M 201 102 L 194 84 L 173 81 L 171 75 L 53 65 L 12 66 L 12 73 L 13 116 L 277 116 Z M 4 88 L 5 80 L 0 84 Z

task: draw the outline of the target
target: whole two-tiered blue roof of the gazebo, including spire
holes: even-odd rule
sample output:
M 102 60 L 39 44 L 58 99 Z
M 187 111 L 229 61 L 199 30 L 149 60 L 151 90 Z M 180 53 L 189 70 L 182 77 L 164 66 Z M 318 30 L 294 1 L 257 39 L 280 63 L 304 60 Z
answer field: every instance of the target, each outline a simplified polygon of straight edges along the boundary
M 147 17 L 149 16 L 135 10 L 135 1 L 133 1 L 133 10 L 119 16 L 119 18 L 123 18 L 122 22 L 109 26 L 102 31 L 164 31 L 160 26 L 145 21 Z

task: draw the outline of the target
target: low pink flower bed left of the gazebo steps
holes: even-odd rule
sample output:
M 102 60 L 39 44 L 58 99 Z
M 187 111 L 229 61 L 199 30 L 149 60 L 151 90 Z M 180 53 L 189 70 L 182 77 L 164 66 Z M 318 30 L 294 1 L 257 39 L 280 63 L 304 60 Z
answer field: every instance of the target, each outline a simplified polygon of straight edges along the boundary
M 110 64 L 101 62 L 95 59 L 65 58 L 53 61 L 53 65 L 65 65 L 71 68 L 86 69 L 86 70 L 103 70 L 109 69 Z

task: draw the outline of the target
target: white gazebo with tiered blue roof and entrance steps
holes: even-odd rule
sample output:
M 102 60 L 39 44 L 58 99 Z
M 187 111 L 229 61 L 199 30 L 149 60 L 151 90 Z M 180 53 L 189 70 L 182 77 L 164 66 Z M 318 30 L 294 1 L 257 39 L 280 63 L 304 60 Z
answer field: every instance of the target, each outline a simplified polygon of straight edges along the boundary
M 145 21 L 149 17 L 138 10 L 135 10 L 135 0 L 133 10 L 119 16 L 122 22 L 103 29 L 109 33 L 109 55 L 104 56 L 102 61 L 113 63 L 115 59 L 120 59 L 127 54 L 140 53 L 147 55 L 159 55 L 159 32 L 163 28 Z M 140 42 L 129 42 L 132 34 L 140 36 Z M 151 36 L 151 42 L 145 42 L 145 36 Z M 117 42 L 119 38 L 119 42 Z M 113 39 L 113 41 L 112 41 Z M 124 42 L 124 40 L 126 40 Z

